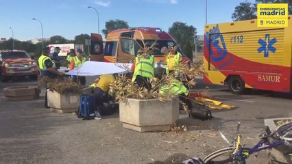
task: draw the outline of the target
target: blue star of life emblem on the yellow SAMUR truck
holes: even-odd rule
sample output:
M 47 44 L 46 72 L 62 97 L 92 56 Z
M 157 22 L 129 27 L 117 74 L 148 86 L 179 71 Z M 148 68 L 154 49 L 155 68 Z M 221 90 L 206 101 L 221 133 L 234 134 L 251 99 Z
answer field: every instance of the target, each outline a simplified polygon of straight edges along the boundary
M 258 53 L 261 52 L 265 52 L 264 53 L 264 57 L 269 57 L 269 51 L 271 51 L 272 53 L 276 52 L 276 48 L 273 47 L 273 44 L 275 44 L 277 42 L 276 38 L 273 38 L 272 40 L 270 40 L 269 38 L 269 34 L 265 35 L 265 40 L 263 39 L 259 39 L 258 43 L 261 45 L 260 48 L 258 48 Z

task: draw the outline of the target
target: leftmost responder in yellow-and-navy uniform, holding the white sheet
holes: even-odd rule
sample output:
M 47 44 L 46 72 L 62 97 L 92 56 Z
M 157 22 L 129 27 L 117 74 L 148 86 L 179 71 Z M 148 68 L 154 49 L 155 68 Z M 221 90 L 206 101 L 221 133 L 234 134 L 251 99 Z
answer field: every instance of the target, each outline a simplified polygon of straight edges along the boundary
M 56 70 L 56 66 L 53 63 L 53 61 L 51 61 L 49 54 L 50 54 L 49 46 L 46 46 L 42 49 L 42 55 L 38 58 L 40 76 L 56 78 L 58 76 L 64 75 L 64 73 Z M 45 94 L 45 108 L 49 108 L 48 102 L 47 102 L 47 85 L 46 85 L 46 94 Z

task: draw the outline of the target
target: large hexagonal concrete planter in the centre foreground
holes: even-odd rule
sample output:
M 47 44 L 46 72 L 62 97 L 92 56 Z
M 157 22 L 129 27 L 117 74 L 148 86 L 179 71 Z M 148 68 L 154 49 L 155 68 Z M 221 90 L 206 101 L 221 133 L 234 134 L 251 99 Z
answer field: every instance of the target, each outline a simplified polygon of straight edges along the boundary
M 138 100 L 129 98 L 128 104 L 119 102 L 120 121 L 124 128 L 134 131 L 169 131 L 173 122 L 178 120 L 179 100 L 158 99 Z

